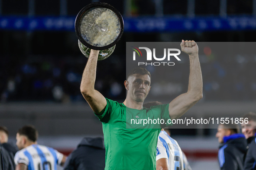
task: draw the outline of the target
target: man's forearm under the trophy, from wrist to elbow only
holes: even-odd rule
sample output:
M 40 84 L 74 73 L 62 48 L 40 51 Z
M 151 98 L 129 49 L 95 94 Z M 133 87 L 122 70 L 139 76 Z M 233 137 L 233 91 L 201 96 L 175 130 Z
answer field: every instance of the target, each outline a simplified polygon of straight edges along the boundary
M 88 95 L 94 91 L 98 54 L 98 50 L 91 50 L 90 57 L 84 68 L 80 86 L 83 95 Z

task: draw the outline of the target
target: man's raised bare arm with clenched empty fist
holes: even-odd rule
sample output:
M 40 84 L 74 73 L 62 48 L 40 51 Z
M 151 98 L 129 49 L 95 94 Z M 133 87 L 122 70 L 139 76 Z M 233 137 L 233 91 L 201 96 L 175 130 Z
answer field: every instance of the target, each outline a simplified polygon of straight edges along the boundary
M 179 95 L 169 104 L 169 115 L 171 119 L 182 116 L 203 97 L 203 81 L 198 58 L 198 45 L 194 41 L 182 40 L 181 50 L 188 54 L 190 60 L 188 92 Z

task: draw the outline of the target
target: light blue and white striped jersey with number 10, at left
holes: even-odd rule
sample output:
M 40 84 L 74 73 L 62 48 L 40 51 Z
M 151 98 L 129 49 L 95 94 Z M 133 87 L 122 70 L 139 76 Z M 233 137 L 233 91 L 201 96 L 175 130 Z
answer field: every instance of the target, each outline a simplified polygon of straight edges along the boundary
M 28 170 L 57 170 L 63 154 L 43 145 L 30 145 L 15 154 L 15 164 L 26 164 Z

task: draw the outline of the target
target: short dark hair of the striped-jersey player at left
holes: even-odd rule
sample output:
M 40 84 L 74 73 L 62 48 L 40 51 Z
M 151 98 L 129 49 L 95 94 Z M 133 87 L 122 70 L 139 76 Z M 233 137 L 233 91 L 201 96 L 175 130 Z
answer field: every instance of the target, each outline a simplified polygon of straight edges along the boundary
M 19 135 L 26 136 L 29 140 L 36 142 L 38 138 L 38 132 L 35 128 L 35 126 L 32 125 L 25 125 L 22 128 L 18 130 Z

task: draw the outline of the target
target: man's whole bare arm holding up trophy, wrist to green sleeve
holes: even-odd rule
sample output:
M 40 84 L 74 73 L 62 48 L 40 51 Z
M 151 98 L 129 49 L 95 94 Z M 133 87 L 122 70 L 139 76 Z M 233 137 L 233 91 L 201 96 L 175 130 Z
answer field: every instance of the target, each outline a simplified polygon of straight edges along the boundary
M 97 115 L 101 115 L 101 112 L 107 105 L 107 101 L 99 91 L 94 89 L 98 54 L 98 50 L 91 49 L 90 56 L 84 68 L 80 90 L 91 109 Z

